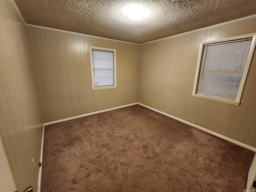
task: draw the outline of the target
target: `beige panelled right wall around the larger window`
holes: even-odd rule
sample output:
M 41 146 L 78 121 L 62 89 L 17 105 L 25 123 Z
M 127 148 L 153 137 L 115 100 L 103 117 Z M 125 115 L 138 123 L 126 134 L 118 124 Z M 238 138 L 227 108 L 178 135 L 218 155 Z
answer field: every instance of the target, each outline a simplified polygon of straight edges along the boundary
M 256 17 L 142 45 L 139 102 L 256 147 L 255 53 L 240 106 L 192 97 L 200 42 L 253 32 Z

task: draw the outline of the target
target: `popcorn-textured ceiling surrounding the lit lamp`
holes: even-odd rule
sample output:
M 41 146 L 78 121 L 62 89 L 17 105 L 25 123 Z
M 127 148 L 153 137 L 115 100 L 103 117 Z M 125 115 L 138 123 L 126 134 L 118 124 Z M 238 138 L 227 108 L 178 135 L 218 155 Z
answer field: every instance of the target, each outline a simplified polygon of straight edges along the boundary
M 144 43 L 256 14 L 256 0 L 14 0 L 25 22 L 116 40 Z M 122 8 L 147 7 L 129 20 Z

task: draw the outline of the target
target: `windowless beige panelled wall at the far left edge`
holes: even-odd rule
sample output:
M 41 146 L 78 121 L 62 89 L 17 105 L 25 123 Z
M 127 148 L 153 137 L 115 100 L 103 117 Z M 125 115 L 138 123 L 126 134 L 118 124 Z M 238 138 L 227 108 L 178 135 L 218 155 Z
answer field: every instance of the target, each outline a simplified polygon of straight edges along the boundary
M 18 191 L 37 190 L 42 120 L 25 26 L 10 0 L 1 1 L 0 26 L 0 135 Z

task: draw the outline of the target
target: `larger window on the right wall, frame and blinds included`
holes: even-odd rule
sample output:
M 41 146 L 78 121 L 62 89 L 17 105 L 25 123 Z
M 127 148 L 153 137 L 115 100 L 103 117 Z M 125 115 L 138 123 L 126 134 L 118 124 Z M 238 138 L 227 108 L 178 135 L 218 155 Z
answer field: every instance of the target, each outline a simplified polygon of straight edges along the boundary
M 192 95 L 239 105 L 254 53 L 253 35 L 202 42 Z

